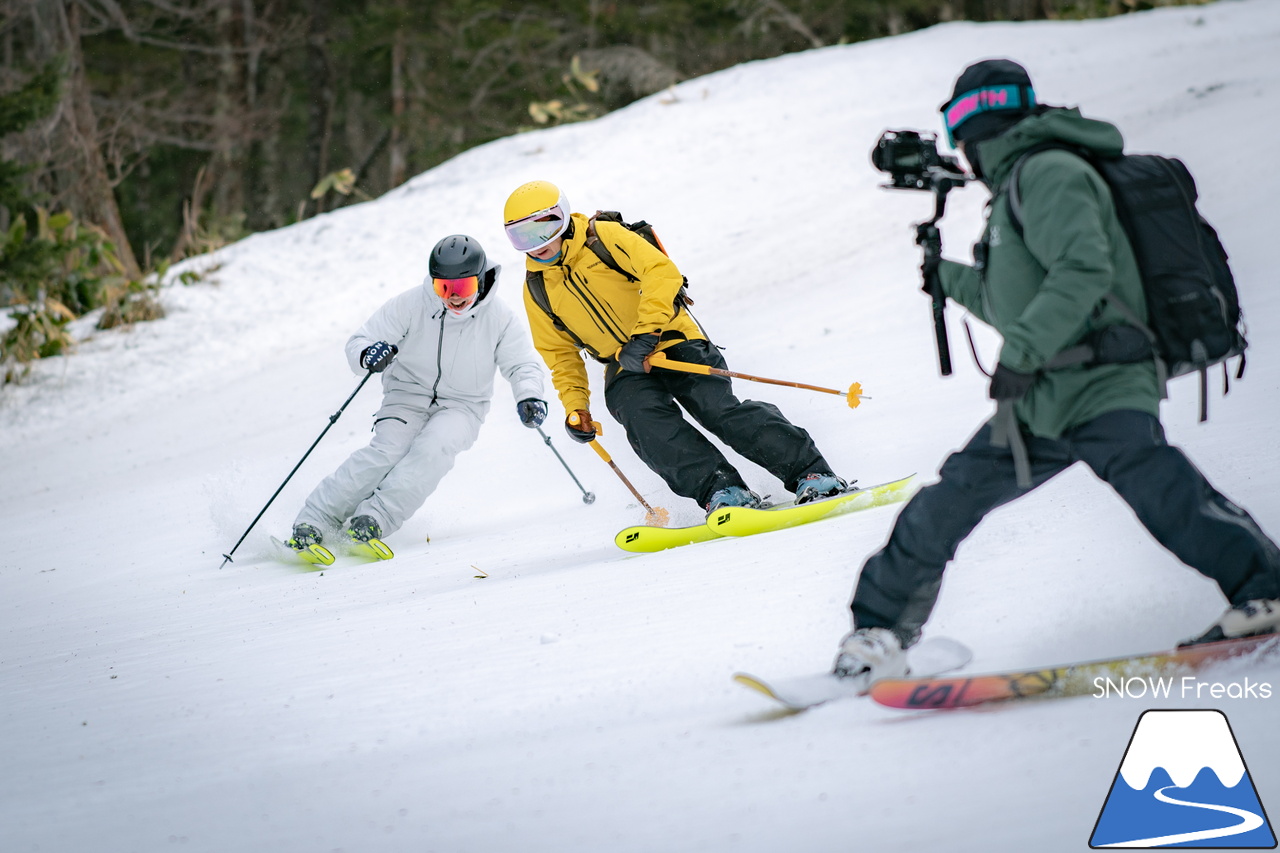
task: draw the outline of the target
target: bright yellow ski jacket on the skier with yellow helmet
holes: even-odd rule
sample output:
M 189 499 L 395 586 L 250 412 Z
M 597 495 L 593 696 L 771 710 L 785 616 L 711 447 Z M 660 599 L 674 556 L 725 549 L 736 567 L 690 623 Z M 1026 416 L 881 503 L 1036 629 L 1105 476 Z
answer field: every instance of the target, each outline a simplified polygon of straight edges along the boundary
M 595 223 L 595 234 L 613 260 L 637 280 L 609 269 L 586 245 L 588 218 L 572 214 L 559 260 L 539 264 L 525 257 L 529 273 L 541 273 L 552 311 L 593 355 L 613 361 L 636 334 L 657 332 L 658 350 L 705 338 L 689 311 L 676 307 L 684 275 L 676 264 L 644 237 L 614 222 Z M 577 343 L 556 328 L 525 287 L 525 311 L 534 346 L 552 371 L 552 384 L 566 412 L 590 409 L 586 364 Z

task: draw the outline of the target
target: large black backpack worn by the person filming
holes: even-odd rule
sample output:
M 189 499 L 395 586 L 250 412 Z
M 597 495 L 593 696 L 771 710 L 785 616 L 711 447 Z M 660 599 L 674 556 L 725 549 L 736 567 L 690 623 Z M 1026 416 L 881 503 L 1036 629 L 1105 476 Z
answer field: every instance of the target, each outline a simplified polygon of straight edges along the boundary
M 1149 347 L 1140 357 L 1156 357 L 1161 379 L 1201 374 L 1201 420 L 1208 416 L 1207 371 L 1216 364 L 1240 356 L 1236 379 L 1244 375 L 1243 318 L 1235 278 L 1226 250 L 1213 227 L 1196 209 L 1196 181 L 1181 163 L 1157 154 L 1128 154 L 1103 158 L 1065 143 L 1046 143 L 1023 154 L 1009 177 L 1009 210 L 1021 234 L 1021 196 L 1018 175 L 1033 154 L 1055 147 L 1071 151 L 1092 165 L 1111 188 L 1120 224 L 1133 246 L 1147 297 L 1143 324 L 1132 307 L 1114 296 L 1107 301 L 1140 329 Z M 1075 362 L 1139 360 L 1128 353 L 1107 359 L 1105 347 Z M 1102 355 L 1102 357 L 1098 357 Z M 1228 387 L 1222 366 L 1224 393 Z

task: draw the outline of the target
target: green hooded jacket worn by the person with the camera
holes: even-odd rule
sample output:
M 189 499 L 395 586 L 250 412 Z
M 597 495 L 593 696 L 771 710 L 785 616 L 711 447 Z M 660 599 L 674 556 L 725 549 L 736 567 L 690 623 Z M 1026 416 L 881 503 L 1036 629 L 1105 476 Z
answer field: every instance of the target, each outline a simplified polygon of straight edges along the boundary
M 1114 295 L 1147 319 L 1138 265 L 1116 218 L 1111 191 L 1082 158 L 1060 149 L 1038 151 L 1019 174 L 1023 233 L 1009 213 L 1009 174 L 1032 146 L 1062 141 L 1100 155 L 1119 155 L 1120 131 L 1076 109 L 1029 115 L 1005 133 L 978 142 L 992 187 L 986 269 L 943 261 L 942 288 L 1004 338 L 1000 362 L 1037 373 L 1018 401 L 1018 420 L 1033 435 L 1064 430 L 1120 409 L 1160 415 L 1162 388 L 1155 361 L 1061 368 L 1038 373 L 1057 352 L 1125 316 L 1103 301 Z

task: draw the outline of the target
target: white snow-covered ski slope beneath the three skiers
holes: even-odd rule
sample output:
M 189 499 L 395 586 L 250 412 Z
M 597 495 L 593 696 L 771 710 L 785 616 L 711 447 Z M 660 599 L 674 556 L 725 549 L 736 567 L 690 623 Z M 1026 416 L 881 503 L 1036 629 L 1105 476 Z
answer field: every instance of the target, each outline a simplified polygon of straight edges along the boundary
M 895 511 L 627 555 L 612 539 L 640 520 L 634 498 L 553 406 L 548 434 L 598 494 L 585 505 L 502 382 L 476 447 L 390 537 L 394 561 L 302 573 L 268 556 L 266 535 L 366 442 L 366 388 L 219 569 L 356 387 L 347 336 L 421 280 L 439 237 L 476 236 L 518 307 L 500 211 L 535 178 L 579 210 L 657 223 L 731 368 L 861 382 L 858 410 L 737 386 L 805 425 L 841 474 L 931 479 L 991 406 L 955 309 L 957 370 L 938 377 L 911 229 L 931 197 L 878 190 L 868 152 L 886 128 L 938 129 L 956 74 L 986 56 L 1019 59 L 1042 100 L 1197 175 L 1253 347 L 1207 424 L 1190 380 L 1165 423 L 1280 534 L 1280 3 L 956 23 L 742 65 L 201 259 L 216 270 L 169 288 L 166 320 L 100 333 L 0 392 L 0 849 L 1083 850 L 1149 707 L 1226 712 L 1280 809 L 1280 666 L 1249 672 L 1270 699 L 780 716 L 731 674 L 826 669 Z M 948 255 L 968 256 L 984 201 L 952 193 Z M 997 342 L 978 339 L 989 364 Z M 614 424 L 603 442 L 652 503 L 698 517 Z M 1165 647 L 1221 607 L 1082 469 L 979 528 L 928 630 L 987 670 Z

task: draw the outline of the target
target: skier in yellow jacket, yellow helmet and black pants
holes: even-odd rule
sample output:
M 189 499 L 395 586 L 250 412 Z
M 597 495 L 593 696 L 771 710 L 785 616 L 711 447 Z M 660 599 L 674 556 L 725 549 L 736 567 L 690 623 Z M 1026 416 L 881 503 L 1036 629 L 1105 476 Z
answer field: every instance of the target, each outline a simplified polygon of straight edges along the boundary
M 525 310 L 534 346 L 550 368 L 573 441 L 594 441 L 596 432 L 586 352 L 605 365 L 604 402 L 636 455 L 672 492 L 708 512 L 759 506 L 760 497 L 681 407 L 782 480 L 800 503 L 850 487 L 832 473 L 809 433 L 777 406 L 735 397 L 727 377 L 649 370 L 654 351 L 724 369 L 719 350 L 685 309 L 685 278 L 663 251 L 617 222 L 571 214 L 564 195 L 547 181 L 512 192 L 504 220 L 511 245 L 526 255 Z

